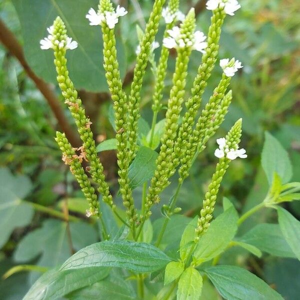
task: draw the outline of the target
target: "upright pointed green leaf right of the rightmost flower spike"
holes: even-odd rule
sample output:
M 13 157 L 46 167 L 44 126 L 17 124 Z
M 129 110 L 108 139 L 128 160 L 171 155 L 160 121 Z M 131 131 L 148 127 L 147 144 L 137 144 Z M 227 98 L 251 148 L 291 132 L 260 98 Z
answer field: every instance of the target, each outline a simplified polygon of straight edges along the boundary
M 280 176 L 282 183 L 288 182 L 292 176 L 292 167 L 287 152 L 279 141 L 268 132 L 265 132 L 261 165 L 269 185 L 272 183 L 274 172 Z

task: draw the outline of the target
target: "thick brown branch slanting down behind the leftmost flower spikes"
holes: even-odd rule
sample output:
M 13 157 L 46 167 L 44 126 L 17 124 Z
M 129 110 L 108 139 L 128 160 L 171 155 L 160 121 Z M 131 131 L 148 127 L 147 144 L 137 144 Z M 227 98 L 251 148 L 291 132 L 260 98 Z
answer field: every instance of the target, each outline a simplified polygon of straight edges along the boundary
M 36 87 L 43 94 L 49 106 L 51 107 L 51 110 L 54 113 L 61 130 L 65 132 L 71 144 L 74 146 L 78 146 L 80 144 L 79 137 L 76 136 L 75 131 L 68 123 L 58 98 L 56 97 L 52 89 L 49 87 L 49 85 L 41 78 L 37 77 L 36 74 L 32 71 L 27 61 L 25 60 L 21 45 L 15 38 L 13 32 L 11 32 L 6 27 L 6 25 L 1 19 L 0 41 L 7 48 L 7 50 L 19 61 L 19 63 L 22 65 L 25 72 L 27 73 L 28 77 L 30 77 L 34 81 Z

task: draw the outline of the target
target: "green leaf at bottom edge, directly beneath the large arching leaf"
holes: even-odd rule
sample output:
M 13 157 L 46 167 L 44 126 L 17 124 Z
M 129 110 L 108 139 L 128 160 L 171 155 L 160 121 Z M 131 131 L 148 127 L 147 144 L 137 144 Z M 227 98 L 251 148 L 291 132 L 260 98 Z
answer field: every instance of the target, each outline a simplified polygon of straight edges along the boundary
M 109 274 L 104 280 L 67 295 L 71 300 L 136 300 L 134 290 L 120 276 Z

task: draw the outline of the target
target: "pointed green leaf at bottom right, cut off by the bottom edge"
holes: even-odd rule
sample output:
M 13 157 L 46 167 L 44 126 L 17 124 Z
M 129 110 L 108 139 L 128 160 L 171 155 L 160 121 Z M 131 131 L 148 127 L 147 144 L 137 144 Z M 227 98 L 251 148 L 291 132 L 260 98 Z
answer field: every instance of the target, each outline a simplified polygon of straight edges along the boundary
M 267 283 L 246 269 L 221 265 L 205 268 L 204 271 L 227 300 L 283 300 Z

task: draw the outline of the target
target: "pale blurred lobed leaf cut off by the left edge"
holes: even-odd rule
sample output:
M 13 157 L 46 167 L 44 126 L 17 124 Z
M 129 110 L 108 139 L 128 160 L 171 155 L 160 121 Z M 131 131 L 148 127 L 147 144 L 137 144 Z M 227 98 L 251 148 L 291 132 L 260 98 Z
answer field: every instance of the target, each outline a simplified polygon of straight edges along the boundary
M 8 168 L 0 168 L 0 248 L 16 227 L 26 226 L 33 216 L 29 203 L 22 201 L 32 188 L 27 176 L 13 176 Z

